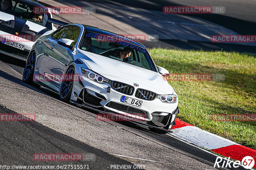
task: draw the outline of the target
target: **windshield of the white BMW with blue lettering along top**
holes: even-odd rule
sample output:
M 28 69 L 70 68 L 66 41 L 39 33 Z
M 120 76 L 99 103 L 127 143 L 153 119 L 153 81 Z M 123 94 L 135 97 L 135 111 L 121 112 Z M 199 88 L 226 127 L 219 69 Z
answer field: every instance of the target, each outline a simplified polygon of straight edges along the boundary
M 117 35 L 85 32 L 79 48 L 104 57 L 156 71 L 148 51 L 145 48 L 133 45 L 132 40 L 128 38 Z

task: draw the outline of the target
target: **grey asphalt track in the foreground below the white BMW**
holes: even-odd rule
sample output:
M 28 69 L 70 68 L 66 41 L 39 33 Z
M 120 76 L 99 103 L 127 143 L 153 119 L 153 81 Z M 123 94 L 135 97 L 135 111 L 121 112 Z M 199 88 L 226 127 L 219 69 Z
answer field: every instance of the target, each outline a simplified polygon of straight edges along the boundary
M 33 154 L 89 152 L 96 155 L 96 161 L 78 164 L 89 164 L 91 169 L 131 163 L 145 165 L 145 169 L 213 169 L 216 154 L 131 122 L 96 121 L 96 112 L 63 103 L 55 93 L 22 82 L 25 62 L 6 58 L 0 57 L 4 61 L 0 63 L 1 113 L 46 117 L 36 122 L 0 121 L 1 165 L 74 165 L 77 162 L 34 161 Z

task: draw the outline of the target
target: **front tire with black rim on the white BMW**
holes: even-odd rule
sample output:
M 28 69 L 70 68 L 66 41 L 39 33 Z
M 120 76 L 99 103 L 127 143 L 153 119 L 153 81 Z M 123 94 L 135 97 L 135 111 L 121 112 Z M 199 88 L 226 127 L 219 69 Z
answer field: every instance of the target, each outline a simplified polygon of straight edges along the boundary
M 60 86 L 60 100 L 68 103 L 70 101 L 73 85 L 74 85 L 74 75 L 75 67 L 71 66 L 68 68 L 68 71 L 64 74 L 64 77 L 68 75 L 68 80 L 63 79 Z M 70 76 L 71 75 L 71 76 Z M 70 79 L 69 79 L 70 78 Z

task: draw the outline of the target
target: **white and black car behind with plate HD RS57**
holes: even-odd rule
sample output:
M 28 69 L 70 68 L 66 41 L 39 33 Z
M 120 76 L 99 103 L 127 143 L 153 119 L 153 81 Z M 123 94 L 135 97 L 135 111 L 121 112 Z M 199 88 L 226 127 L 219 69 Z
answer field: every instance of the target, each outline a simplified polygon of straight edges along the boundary
M 56 28 L 52 23 L 43 25 L 44 14 L 35 14 L 33 9 L 48 9 L 32 0 L 0 0 L 0 53 L 27 60 L 36 39 Z M 52 18 L 51 11 L 47 14 Z

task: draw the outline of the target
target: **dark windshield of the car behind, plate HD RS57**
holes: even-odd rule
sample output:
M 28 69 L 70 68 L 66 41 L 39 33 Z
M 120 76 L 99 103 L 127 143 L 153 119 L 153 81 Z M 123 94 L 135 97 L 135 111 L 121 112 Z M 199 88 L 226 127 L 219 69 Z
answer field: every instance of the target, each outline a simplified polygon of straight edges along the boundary
M 0 11 L 5 12 L 16 17 L 26 19 L 28 21 L 34 22 L 36 24 L 43 26 L 43 16 L 44 14 L 39 14 L 34 12 L 36 8 L 42 10 L 44 7 L 36 7 L 35 5 L 28 4 L 19 0 L 0 0 L 1 6 Z M 47 14 L 48 18 L 51 18 L 50 14 Z M 46 28 L 52 30 L 52 24 L 46 23 Z

